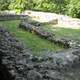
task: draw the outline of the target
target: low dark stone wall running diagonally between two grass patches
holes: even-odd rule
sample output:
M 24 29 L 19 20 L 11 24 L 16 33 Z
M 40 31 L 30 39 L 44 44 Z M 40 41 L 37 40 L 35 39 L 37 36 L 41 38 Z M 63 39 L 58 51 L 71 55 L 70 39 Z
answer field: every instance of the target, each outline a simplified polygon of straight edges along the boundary
M 46 32 L 41 27 L 33 26 L 27 22 L 21 22 L 19 24 L 19 28 L 21 28 L 25 31 L 34 32 L 36 35 L 38 35 L 41 38 L 47 39 L 50 42 L 53 42 L 58 45 L 63 45 L 64 48 L 70 48 L 74 45 L 77 45 L 75 42 L 73 42 L 70 39 L 56 38 L 55 34 Z

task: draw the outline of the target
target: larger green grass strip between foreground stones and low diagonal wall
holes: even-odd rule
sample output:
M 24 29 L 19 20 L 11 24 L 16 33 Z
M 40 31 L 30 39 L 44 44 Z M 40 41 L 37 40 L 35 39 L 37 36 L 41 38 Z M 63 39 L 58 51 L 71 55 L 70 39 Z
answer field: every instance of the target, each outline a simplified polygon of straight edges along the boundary
M 41 55 L 44 50 L 60 51 L 63 46 L 55 45 L 45 39 L 39 38 L 34 33 L 23 31 L 18 28 L 20 21 L 1 21 L 0 26 L 7 28 L 18 40 L 22 41 L 26 48 L 29 48 L 33 54 Z M 43 54 L 43 53 L 42 53 Z

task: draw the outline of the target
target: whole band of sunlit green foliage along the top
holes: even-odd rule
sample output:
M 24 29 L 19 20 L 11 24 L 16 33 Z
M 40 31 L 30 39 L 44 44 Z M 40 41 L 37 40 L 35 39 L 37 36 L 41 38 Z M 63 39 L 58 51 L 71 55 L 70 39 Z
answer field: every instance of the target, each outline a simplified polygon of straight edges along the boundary
M 80 0 L 0 0 L 0 10 L 39 10 L 80 18 Z

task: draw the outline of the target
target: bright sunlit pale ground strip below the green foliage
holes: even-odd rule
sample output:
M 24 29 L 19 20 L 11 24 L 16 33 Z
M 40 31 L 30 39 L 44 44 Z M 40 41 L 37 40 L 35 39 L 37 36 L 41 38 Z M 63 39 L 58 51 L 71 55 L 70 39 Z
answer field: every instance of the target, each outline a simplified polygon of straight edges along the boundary
M 80 29 L 80 19 L 71 18 L 66 15 L 59 15 L 55 13 L 48 12 L 37 12 L 37 11 L 25 11 L 23 14 L 26 14 L 32 17 L 34 20 L 39 22 L 53 22 L 56 20 L 58 27 L 71 28 L 71 29 Z

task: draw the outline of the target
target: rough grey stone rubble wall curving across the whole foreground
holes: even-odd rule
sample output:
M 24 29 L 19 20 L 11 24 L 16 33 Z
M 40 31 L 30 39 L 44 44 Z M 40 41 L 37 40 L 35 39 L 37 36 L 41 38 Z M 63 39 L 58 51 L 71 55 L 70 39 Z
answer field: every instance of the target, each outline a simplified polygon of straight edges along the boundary
M 0 27 L 0 80 L 80 80 L 80 44 L 63 42 L 69 49 L 37 57 Z

